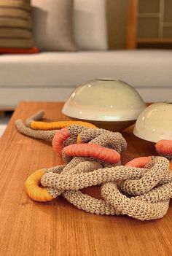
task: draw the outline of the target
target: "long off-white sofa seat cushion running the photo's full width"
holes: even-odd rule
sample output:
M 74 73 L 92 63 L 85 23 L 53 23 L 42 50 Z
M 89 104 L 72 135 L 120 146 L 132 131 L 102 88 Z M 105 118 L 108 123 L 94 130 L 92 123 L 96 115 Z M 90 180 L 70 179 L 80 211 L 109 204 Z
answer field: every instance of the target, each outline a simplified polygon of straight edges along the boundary
M 0 87 L 74 87 L 114 77 L 136 88 L 172 86 L 171 50 L 117 50 L 1 55 Z

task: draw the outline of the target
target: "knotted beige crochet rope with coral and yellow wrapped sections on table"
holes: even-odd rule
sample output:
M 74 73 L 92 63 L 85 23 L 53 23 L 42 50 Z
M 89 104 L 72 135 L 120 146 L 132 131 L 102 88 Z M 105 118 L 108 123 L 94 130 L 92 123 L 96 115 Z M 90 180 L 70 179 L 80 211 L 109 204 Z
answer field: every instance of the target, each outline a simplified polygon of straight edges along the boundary
M 121 166 L 120 153 L 127 143 L 120 133 L 89 124 L 83 126 L 85 123 L 69 123 L 59 131 L 36 131 L 35 128 L 42 128 L 35 125 L 41 117 L 35 115 L 27 120 L 30 127 L 17 120 L 17 129 L 28 136 L 52 141 L 53 150 L 62 155 L 66 165 L 44 168 L 28 177 L 26 191 L 33 200 L 51 201 L 63 195 L 86 212 L 127 214 L 138 220 L 155 220 L 166 214 L 172 197 L 172 173 L 167 158 L 136 158 Z M 101 185 L 102 199 L 79 191 L 95 185 Z

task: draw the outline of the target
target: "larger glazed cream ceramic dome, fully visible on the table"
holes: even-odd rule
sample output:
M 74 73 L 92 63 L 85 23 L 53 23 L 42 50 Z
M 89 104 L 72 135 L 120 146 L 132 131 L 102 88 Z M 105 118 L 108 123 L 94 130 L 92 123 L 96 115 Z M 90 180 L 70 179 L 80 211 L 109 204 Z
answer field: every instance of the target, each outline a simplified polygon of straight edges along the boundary
M 146 108 L 138 92 L 126 82 L 94 79 L 77 87 L 64 104 L 63 114 L 99 128 L 122 131 Z

